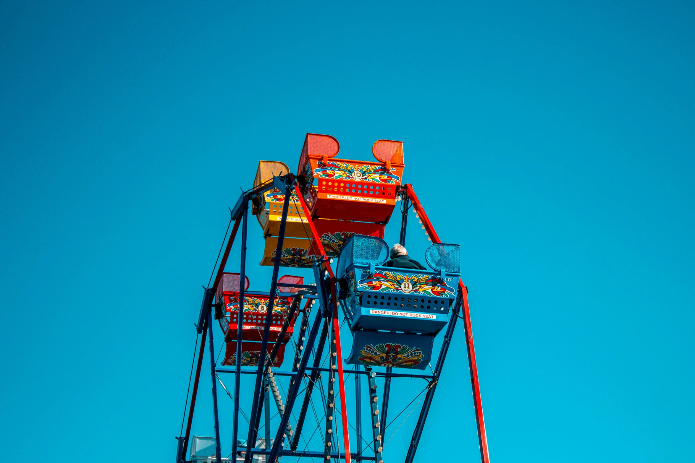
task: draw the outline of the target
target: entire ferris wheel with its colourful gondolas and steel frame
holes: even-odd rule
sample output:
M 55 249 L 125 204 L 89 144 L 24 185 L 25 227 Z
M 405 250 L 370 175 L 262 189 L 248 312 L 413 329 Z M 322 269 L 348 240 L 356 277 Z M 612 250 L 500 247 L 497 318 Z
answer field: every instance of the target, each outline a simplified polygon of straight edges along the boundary
M 412 185 L 402 183 L 402 142 L 375 142 L 375 161 L 338 159 L 338 151 L 334 137 L 306 134 L 297 174 L 282 162 L 259 162 L 253 187 L 231 210 L 231 233 L 228 228 L 197 317 L 201 339 L 199 344 L 196 339 L 195 379 L 192 389 L 189 383 L 186 432 L 177 437 L 176 463 L 281 458 L 383 463 L 386 432 L 395 421 L 387 421 L 397 392 L 394 379 L 425 385 L 409 404 L 418 399 L 411 409 L 419 407 L 418 421 L 405 457 L 413 462 L 459 319 L 480 460 L 489 463 L 459 245 L 441 242 Z M 429 269 L 404 256 L 404 248 L 390 250 L 384 242 L 397 203 L 400 245 L 406 244 L 407 220 L 414 212 L 431 242 L 425 252 Z M 263 230 L 260 264 L 272 266 L 270 285 L 263 290 L 250 289 L 246 275 L 249 213 Z M 238 267 L 228 262 L 234 244 L 240 246 Z M 238 272 L 225 272 L 227 267 Z M 313 283 L 286 273 L 298 268 L 311 269 Z M 216 326 L 224 342 L 219 362 Z M 214 437 L 191 436 L 206 350 Z M 352 393 L 346 390 L 350 376 Z M 231 421 L 224 428 L 233 443 L 229 451 L 220 444 L 222 394 L 233 403 L 231 416 L 224 416 L 225 423 Z

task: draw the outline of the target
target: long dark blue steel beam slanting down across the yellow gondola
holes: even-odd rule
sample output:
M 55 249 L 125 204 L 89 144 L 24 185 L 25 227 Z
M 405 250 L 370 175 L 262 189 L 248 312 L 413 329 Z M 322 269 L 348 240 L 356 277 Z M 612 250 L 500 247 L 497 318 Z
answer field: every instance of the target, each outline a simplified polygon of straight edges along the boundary
M 280 230 L 277 236 L 277 249 L 275 249 L 275 262 L 272 266 L 272 280 L 270 281 L 270 300 L 268 301 L 268 317 L 265 317 L 265 326 L 263 327 L 263 341 L 261 342 L 261 356 L 263 361 L 259 361 L 259 368 L 256 372 L 256 386 L 254 387 L 253 403 L 251 406 L 249 435 L 247 439 L 247 450 L 244 463 L 251 463 L 253 457 L 252 448 L 256 444 L 256 435 L 258 433 L 259 421 L 261 421 L 261 396 L 263 395 L 263 376 L 265 373 L 265 355 L 267 355 L 268 335 L 270 335 L 270 323 L 272 321 L 272 308 L 275 305 L 275 291 L 277 290 L 277 275 L 280 269 L 280 256 L 282 255 L 282 243 L 285 238 L 285 228 L 287 225 L 287 212 L 290 208 L 290 199 L 292 197 L 289 187 L 294 183 L 294 177 L 288 174 L 285 179 L 273 178 L 273 183 L 277 186 L 282 186 L 279 181 L 285 180 L 290 185 L 285 184 L 285 201 L 282 208 L 282 221 L 280 222 Z M 283 191 L 283 190 L 281 190 Z M 218 460 L 220 462 L 221 460 Z

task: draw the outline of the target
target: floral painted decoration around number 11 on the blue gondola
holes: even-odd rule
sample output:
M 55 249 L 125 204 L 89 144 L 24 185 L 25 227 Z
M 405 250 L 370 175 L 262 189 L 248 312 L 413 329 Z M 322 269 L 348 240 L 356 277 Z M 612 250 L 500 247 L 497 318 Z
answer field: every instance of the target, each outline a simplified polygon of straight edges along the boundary
M 391 271 L 375 271 L 367 278 L 359 280 L 358 289 L 379 292 L 403 292 L 405 294 L 425 294 L 426 296 L 449 297 L 454 288 L 447 285 L 439 276 L 422 274 L 402 274 Z

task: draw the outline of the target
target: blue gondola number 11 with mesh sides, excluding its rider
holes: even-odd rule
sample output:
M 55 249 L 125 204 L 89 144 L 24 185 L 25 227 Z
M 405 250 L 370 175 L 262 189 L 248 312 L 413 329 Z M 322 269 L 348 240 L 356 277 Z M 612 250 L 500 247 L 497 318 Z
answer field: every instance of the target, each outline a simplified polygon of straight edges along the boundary
M 432 244 L 425 259 L 433 271 L 383 267 L 388 258 L 383 239 L 364 235 L 341 251 L 336 276 L 353 332 L 347 363 L 425 369 L 455 301 L 459 245 Z

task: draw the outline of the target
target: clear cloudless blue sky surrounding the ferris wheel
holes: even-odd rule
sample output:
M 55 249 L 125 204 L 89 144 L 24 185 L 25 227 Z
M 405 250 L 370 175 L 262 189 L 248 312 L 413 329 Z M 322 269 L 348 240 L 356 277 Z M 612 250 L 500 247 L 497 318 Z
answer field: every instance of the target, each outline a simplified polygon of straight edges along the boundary
M 227 207 L 314 132 L 403 140 L 461 244 L 493 462 L 692 462 L 694 26 L 689 2 L 1 2 L 3 460 L 173 459 Z M 456 339 L 417 462 L 478 460 Z

